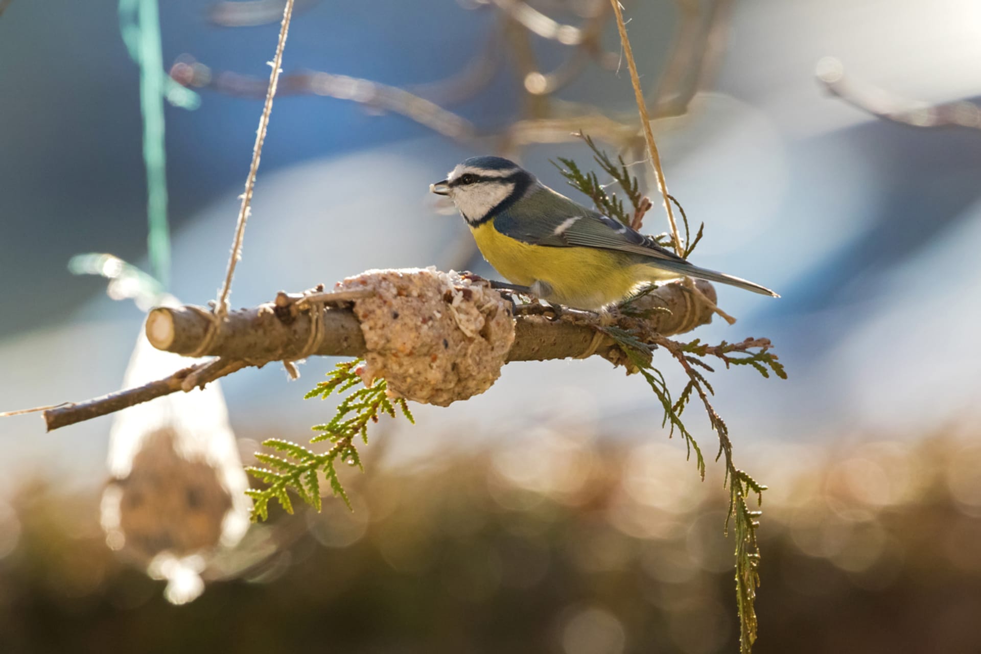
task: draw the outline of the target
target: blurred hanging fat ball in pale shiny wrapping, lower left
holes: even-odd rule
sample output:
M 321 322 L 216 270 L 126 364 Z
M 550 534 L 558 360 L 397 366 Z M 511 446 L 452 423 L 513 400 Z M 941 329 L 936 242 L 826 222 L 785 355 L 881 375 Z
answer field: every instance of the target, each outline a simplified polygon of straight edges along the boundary
M 160 377 L 184 360 L 161 352 L 141 333 L 126 386 Z M 204 589 L 200 574 L 248 528 L 248 480 L 242 471 L 217 383 L 121 411 L 110 431 L 102 497 L 106 542 L 154 579 L 165 595 L 189 602 Z

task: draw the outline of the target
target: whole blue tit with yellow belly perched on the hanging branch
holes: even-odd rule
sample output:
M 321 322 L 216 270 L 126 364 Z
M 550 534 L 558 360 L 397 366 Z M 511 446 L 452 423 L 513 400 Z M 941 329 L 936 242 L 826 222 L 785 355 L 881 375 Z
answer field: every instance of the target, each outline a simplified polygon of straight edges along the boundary
M 467 159 L 430 190 L 449 196 L 498 273 L 548 302 L 599 310 L 645 282 L 678 277 L 779 297 L 746 279 L 693 266 L 652 237 L 556 193 L 501 157 Z

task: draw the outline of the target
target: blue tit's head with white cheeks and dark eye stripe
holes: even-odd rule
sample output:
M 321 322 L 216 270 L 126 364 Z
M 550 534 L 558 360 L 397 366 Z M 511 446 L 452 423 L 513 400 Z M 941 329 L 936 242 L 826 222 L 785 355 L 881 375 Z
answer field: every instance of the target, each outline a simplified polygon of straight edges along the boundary
M 471 225 L 479 225 L 524 197 L 537 180 L 517 164 L 501 157 L 472 157 L 430 190 L 448 195 Z

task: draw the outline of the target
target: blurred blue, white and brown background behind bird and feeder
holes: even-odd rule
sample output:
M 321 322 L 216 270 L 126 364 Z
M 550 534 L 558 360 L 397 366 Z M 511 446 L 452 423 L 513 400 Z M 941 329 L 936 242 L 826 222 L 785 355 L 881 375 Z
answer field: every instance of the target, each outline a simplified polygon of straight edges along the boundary
M 693 334 L 770 337 L 790 375 L 711 378 L 737 465 L 770 487 L 755 651 L 981 651 L 981 4 L 624 5 L 669 188 L 705 223 L 695 260 L 783 295 L 720 287 L 739 322 Z M 283 3 L 161 3 L 157 45 L 155 7 L 0 0 L 0 410 L 123 384 L 144 314 L 74 255 L 187 303 L 224 277 Z M 165 98 L 156 266 L 141 88 L 151 123 Z M 369 268 L 490 276 L 429 183 L 499 153 L 560 189 L 550 159 L 590 162 L 577 129 L 642 161 L 635 115 L 605 0 L 297 0 L 232 305 Z M 664 229 L 655 207 L 645 230 Z M 223 379 L 226 491 L 262 439 L 332 414 L 301 398 L 334 363 Z M 0 651 L 738 651 L 721 467 L 698 480 L 642 380 L 511 364 L 415 413 L 342 473 L 353 513 L 223 525 L 240 542 L 190 566 L 209 586 L 184 606 L 110 549 L 106 480 L 146 468 L 125 429 L 0 420 Z M 163 442 L 139 429 L 130 449 Z M 182 491 L 164 470 L 155 487 Z

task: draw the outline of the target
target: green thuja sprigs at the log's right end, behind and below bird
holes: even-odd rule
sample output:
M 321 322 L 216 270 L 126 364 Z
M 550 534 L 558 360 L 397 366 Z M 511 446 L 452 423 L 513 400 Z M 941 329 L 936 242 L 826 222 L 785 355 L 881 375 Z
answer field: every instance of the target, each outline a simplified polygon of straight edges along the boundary
M 573 188 L 585 193 L 593 200 L 597 211 L 619 220 L 624 225 L 640 228 L 644 213 L 651 204 L 642 195 L 639 181 L 630 175 L 623 157 L 618 157 L 617 161 L 613 162 L 605 152 L 596 147 L 592 138 L 582 134 L 580 136 L 593 150 L 596 164 L 605 175 L 612 177 L 612 181 L 607 184 L 600 183 L 595 173 L 584 173 L 574 161 L 568 159 L 560 159 L 562 166 L 556 166 Z M 630 201 L 633 207 L 632 215 L 628 213 L 623 200 L 618 198 L 615 192 L 607 192 L 607 188 L 612 186 L 614 182 L 623 190 L 624 195 Z M 668 234 L 660 234 L 655 237 L 655 240 L 659 245 L 675 249 L 678 255 L 688 258 L 698 241 L 701 240 L 704 224 L 698 227 L 695 238 L 691 238 L 685 210 L 678 204 L 677 200 L 671 196 L 669 198 L 678 207 L 683 219 L 685 237 L 682 241 L 681 250 L 677 251 L 678 248 L 675 247 L 673 239 Z M 620 311 L 627 315 L 638 316 L 638 310 L 634 306 L 636 300 L 649 293 L 653 288 L 655 286 L 649 286 L 627 300 L 621 305 Z M 749 653 L 752 649 L 752 643 L 756 639 L 757 630 L 755 598 L 756 587 L 759 585 L 759 547 L 756 540 L 756 529 L 759 528 L 759 506 L 762 503 L 762 494 L 766 490 L 766 486 L 738 468 L 733 461 L 733 445 L 729 438 L 729 428 L 709 401 L 709 397 L 714 395 L 715 391 L 704 374 L 714 372 L 712 367 L 706 363 L 708 357 L 719 359 L 726 368 L 749 366 L 763 377 L 770 377 L 770 374 L 773 373 L 777 377 L 786 378 L 787 374 L 784 367 L 777 360 L 777 356 L 770 351 L 771 343 L 766 338 L 748 338 L 741 343 L 723 341 L 718 345 L 708 345 L 702 343 L 700 339 L 683 343 L 663 336 L 635 333 L 619 327 L 600 328 L 620 345 L 632 368 L 639 372 L 650 385 L 664 412 L 662 427 L 668 428 L 669 437 L 677 432 L 685 439 L 689 458 L 692 457 L 693 452 L 695 453 L 695 462 L 701 478 L 705 477 L 705 460 L 695 436 L 682 419 L 693 396 L 698 397 L 708 416 L 709 426 L 718 436 L 719 450 L 715 460 L 724 460 L 724 483 L 729 489 L 729 512 L 726 517 L 725 529 L 728 532 L 731 525 L 736 540 L 736 604 L 741 628 L 740 649 Z M 672 399 L 671 391 L 664 376 L 653 365 L 653 353 L 658 347 L 666 350 L 688 376 L 688 381 L 681 393 L 674 399 Z M 751 499 L 755 499 L 755 507 L 751 506 Z

